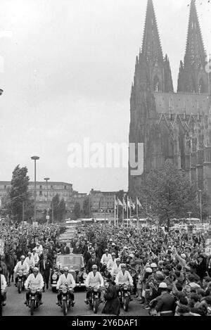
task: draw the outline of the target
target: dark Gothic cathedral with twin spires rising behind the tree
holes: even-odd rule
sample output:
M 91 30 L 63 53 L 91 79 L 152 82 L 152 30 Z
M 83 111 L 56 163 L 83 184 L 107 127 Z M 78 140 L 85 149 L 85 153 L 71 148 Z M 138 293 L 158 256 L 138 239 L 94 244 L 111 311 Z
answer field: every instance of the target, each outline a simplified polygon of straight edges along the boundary
M 170 61 L 163 56 L 153 1 L 148 0 L 143 44 L 136 56 L 129 127 L 129 143 L 143 144 L 143 174 L 132 175 L 129 165 L 130 196 L 139 196 L 146 174 L 170 160 L 187 172 L 198 191 L 206 191 L 211 198 L 211 75 L 207 62 L 192 0 L 186 51 L 174 92 Z

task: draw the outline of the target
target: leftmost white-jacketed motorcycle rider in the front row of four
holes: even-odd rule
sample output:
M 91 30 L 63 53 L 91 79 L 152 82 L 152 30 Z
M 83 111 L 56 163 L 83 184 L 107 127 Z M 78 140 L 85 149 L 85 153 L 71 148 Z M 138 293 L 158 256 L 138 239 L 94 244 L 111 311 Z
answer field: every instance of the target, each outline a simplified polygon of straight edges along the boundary
M 26 281 L 25 281 L 25 288 L 27 289 L 29 288 L 36 288 L 39 291 L 37 292 L 38 297 L 39 297 L 39 303 L 40 305 L 42 305 L 42 301 L 41 301 L 41 290 L 44 286 L 44 280 L 43 277 L 41 276 L 41 274 L 39 273 L 39 269 L 37 267 L 34 267 L 33 269 L 33 273 L 29 275 L 29 277 L 27 277 Z M 25 305 L 27 305 L 28 300 L 30 298 L 30 292 L 27 291 L 26 295 L 25 295 Z

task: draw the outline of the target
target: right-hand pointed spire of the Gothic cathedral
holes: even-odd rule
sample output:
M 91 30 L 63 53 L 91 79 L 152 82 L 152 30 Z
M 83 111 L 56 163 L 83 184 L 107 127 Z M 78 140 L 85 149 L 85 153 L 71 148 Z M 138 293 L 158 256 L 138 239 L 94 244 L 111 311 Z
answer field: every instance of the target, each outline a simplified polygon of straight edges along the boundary
M 180 63 L 177 91 L 207 93 L 206 54 L 200 32 L 196 4 L 191 0 L 184 63 Z

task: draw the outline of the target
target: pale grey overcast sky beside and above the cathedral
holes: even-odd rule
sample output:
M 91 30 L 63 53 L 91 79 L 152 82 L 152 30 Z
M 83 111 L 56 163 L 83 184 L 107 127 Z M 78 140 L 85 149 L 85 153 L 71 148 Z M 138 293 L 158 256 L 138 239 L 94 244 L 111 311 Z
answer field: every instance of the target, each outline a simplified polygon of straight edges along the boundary
M 174 90 L 184 58 L 190 0 L 153 0 Z M 68 166 L 68 145 L 127 143 L 134 64 L 147 0 L 1 0 L 0 180 L 18 164 L 34 179 L 88 192 L 127 190 L 127 168 Z M 207 53 L 211 4 L 196 0 Z

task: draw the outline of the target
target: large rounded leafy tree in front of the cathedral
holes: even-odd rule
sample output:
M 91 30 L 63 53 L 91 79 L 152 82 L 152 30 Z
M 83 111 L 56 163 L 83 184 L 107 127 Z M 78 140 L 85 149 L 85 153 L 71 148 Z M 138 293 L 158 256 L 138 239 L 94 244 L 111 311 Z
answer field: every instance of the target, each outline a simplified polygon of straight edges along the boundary
M 187 212 L 197 205 L 196 188 L 186 172 L 178 170 L 170 161 L 160 170 L 151 170 L 146 177 L 143 191 L 151 209 L 151 215 L 170 227 L 173 218 L 187 217 Z

